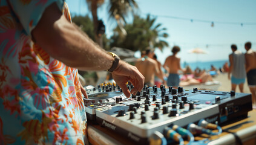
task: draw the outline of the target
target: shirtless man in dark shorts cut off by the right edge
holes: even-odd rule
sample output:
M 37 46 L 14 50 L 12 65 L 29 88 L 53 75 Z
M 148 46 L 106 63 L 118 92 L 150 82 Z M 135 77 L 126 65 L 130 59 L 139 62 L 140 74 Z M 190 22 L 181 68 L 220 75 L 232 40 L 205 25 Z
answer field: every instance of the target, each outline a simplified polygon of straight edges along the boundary
M 251 49 L 252 43 L 245 43 L 246 76 L 252 93 L 252 105 L 256 108 L 256 52 Z

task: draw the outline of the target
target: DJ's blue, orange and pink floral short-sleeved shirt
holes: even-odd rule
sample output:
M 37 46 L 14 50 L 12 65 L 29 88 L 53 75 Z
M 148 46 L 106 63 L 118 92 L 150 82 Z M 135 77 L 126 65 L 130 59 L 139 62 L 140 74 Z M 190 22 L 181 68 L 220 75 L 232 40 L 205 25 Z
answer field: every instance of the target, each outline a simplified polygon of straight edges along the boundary
M 45 8 L 61 0 L 0 1 L 0 144 L 84 144 L 87 118 L 77 69 L 31 40 Z

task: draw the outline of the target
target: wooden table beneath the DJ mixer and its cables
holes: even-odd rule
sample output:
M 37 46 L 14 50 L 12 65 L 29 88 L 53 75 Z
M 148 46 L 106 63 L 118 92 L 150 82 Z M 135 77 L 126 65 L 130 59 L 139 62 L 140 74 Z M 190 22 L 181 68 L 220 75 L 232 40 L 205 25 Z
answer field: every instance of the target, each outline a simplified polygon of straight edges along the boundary
M 234 120 L 232 123 L 222 126 L 222 129 L 235 132 L 243 144 L 256 144 L 256 109 L 248 112 L 248 118 Z M 88 139 L 91 144 L 134 144 L 122 135 L 90 122 L 88 123 Z M 203 137 L 195 137 L 195 140 L 201 139 Z M 235 136 L 228 132 L 213 135 L 209 140 L 211 140 L 209 144 L 226 145 L 236 143 Z

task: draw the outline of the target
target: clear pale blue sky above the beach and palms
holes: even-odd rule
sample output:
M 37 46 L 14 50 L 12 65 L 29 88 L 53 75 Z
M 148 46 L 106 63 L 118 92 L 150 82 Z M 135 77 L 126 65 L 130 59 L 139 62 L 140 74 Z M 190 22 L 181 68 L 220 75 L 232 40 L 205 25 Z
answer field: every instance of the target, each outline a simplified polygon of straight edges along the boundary
M 85 0 L 68 0 L 71 14 L 91 14 Z M 116 23 L 108 19 L 107 3 L 98 9 L 99 19 L 106 25 L 106 34 L 111 37 Z M 153 14 L 157 17 L 156 24 L 162 24 L 167 28 L 169 37 L 166 41 L 170 47 L 179 45 L 182 49 L 179 53 L 182 62 L 194 62 L 212 60 L 228 60 L 231 53 L 231 44 L 235 43 L 238 50 L 245 53 L 244 43 L 252 42 L 252 49 L 256 45 L 256 1 L 255 0 L 138 0 L 141 16 Z M 171 19 L 164 16 L 188 18 Z M 191 22 L 190 19 L 193 19 Z M 207 22 L 197 21 L 203 20 Z M 131 18 L 128 19 L 128 22 Z M 209 22 L 208 22 L 209 21 Z M 211 27 L 214 22 L 214 27 Z M 223 24 L 232 23 L 232 24 Z M 241 26 L 243 23 L 243 26 Z M 246 25 L 251 23 L 253 25 Z M 189 54 L 192 48 L 202 48 L 208 54 Z M 165 48 L 163 52 L 156 50 L 160 62 L 171 54 L 171 48 Z

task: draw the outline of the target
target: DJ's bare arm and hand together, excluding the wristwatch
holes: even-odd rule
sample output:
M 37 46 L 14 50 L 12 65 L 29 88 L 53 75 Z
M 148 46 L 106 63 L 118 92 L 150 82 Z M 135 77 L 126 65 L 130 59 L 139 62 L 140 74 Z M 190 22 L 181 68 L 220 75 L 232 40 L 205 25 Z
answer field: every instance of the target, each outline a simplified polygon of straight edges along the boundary
M 68 22 L 55 3 L 45 9 L 41 20 L 32 31 L 32 36 L 51 57 L 73 68 L 107 70 L 114 61 L 112 56 L 99 48 L 85 33 Z M 126 97 L 130 97 L 130 93 L 136 94 L 143 88 L 142 74 L 135 66 L 122 60 L 112 74 Z M 131 92 L 125 85 L 128 81 L 134 85 Z

